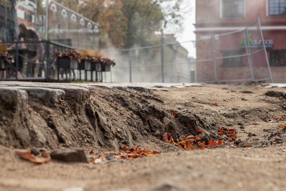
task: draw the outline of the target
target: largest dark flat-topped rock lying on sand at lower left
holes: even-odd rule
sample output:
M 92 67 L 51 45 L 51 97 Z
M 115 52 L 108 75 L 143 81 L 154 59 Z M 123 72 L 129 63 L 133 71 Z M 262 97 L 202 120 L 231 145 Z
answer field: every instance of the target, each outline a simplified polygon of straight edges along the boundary
M 82 149 L 54 150 L 50 154 L 51 159 L 65 162 L 87 162 Z

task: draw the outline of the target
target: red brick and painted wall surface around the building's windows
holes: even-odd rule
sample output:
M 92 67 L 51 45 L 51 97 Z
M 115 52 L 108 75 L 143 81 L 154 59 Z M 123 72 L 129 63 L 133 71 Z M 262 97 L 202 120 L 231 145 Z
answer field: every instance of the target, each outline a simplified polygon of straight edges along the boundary
M 246 0 L 246 18 L 245 19 L 220 19 L 220 0 L 197 0 L 196 1 L 196 27 L 237 27 L 237 26 L 247 26 L 251 23 L 256 16 L 260 16 L 261 23 L 263 26 L 271 25 L 285 25 L 285 17 L 267 17 L 266 16 L 266 0 L 260 0 L 261 3 L 253 5 L 253 1 Z M 281 21 L 284 20 L 283 23 Z M 196 32 L 197 39 L 201 36 L 208 36 L 214 34 L 221 34 L 228 31 L 209 31 L 209 32 Z M 260 40 L 259 31 L 250 31 L 253 39 Z M 264 39 L 274 40 L 274 47 L 268 50 L 286 50 L 286 30 L 275 30 L 275 31 L 263 31 Z M 239 49 L 239 40 L 243 39 L 242 33 L 228 35 L 224 37 L 219 37 L 215 42 L 215 55 L 216 57 L 222 57 L 222 52 L 224 50 L 243 50 Z M 212 49 L 211 40 L 197 41 L 197 60 L 212 59 Z M 251 49 L 251 51 L 256 51 L 257 49 Z M 246 51 L 243 50 L 243 54 Z M 268 53 L 269 57 L 269 53 Z M 259 52 L 252 56 L 253 61 L 253 71 L 254 78 L 265 79 L 269 78 L 269 71 L 267 68 L 267 62 L 264 55 L 264 51 Z M 249 71 L 248 59 L 243 58 L 243 66 L 237 67 L 221 67 L 222 60 L 216 60 L 216 70 L 218 81 L 227 80 L 250 80 L 251 75 Z M 281 67 L 270 67 L 273 80 L 276 83 L 286 82 L 286 66 Z M 197 63 L 197 82 L 208 82 L 215 80 L 214 73 L 214 63 L 213 61 L 199 62 Z M 268 80 L 269 82 L 269 80 Z

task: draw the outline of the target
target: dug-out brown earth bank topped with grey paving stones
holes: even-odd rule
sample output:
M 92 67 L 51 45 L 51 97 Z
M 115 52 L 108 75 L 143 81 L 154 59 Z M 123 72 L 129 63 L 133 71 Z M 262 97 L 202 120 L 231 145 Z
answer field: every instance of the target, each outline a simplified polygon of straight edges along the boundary
M 172 115 L 174 109 L 152 94 L 153 89 L 143 87 L 1 82 L 0 144 L 47 150 L 77 147 L 100 154 L 122 146 L 182 150 L 162 141 L 167 131 L 175 142 L 180 136 L 198 136 L 196 130 L 204 132 L 201 142 L 225 139 L 218 135 L 219 128 L 226 130 L 224 121 L 192 107 Z M 234 118 L 235 112 L 222 115 Z

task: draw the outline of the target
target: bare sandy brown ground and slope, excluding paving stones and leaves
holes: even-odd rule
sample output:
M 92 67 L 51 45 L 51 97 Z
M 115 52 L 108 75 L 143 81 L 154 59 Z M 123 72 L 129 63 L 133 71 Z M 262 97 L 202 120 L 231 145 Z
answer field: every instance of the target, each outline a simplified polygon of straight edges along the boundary
M 286 99 L 265 95 L 268 90 L 285 92 L 285 89 L 265 89 L 255 85 L 169 89 L 168 92 L 154 91 L 154 95 L 149 95 L 133 90 L 89 87 L 89 100 L 74 102 L 66 99 L 53 106 L 29 98 L 27 107 L 33 111 L 25 114 L 31 115 L 23 119 L 26 128 L 38 125 L 49 129 L 54 124 L 55 135 L 50 134 L 55 138 L 42 143 L 38 141 L 39 137 L 31 135 L 30 141 L 21 142 L 13 140 L 17 136 L 2 135 L 0 189 L 286 190 L 286 139 L 275 142 L 286 134 L 285 130 L 277 129 L 285 121 L 272 118 L 286 116 L 283 107 Z M 253 94 L 241 93 L 243 90 Z M 185 106 L 185 101 L 193 102 L 194 106 Z M 63 104 L 66 110 L 61 109 Z M 154 107 L 148 108 L 149 104 Z M 183 108 L 178 109 L 177 105 Z M 184 108 L 188 111 L 182 112 Z M 174 110 L 178 111 L 175 117 L 171 115 Z M 212 110 L 219 111 L 219 114 L 212 113 Z M 2 117 L 3 111 L 2 108 Z M 9 118 L 9 112 L 6 111 L 6 118 Z M 241 114 L 245 112 L 251 118 L 243 118 Z M 97 120 L 94 122 L 92 118 Z M 264 121 L 269 119 L 274 122 Z M 21 120 L 19 124 L 22 124 Z M 39 121 L 47 125 L 41 125 Z M 175 129 L 174 135 L 177 136 L 196 134 L 186 122 L 204 131 L 206 141 L 225 138 L 217 135 L 218 128 L 234 128 L 238 132 L 235 142 L 240 147 L 187 151 L 161 141 L 165 132 L 163 125 Z M 18 123 L 8 120 L 0 127 L 10 128 L 13 132 L 11 124 Z M 160 136 L 151 134 L 157 130 Z M 256 136 L 249 137 L 248 133 Z M 23 161 L 14 154 L 15 147 L 45 147 L 48 152 L 56 148 L 81 147 L 86 154 L 93 149 L 94 155 L 100 156 L 124 145 L 159 150 L 162 154 L 101 164 L 52 161 L 41 165 Z M 251 147 L 243 148 L 246 145 Z

